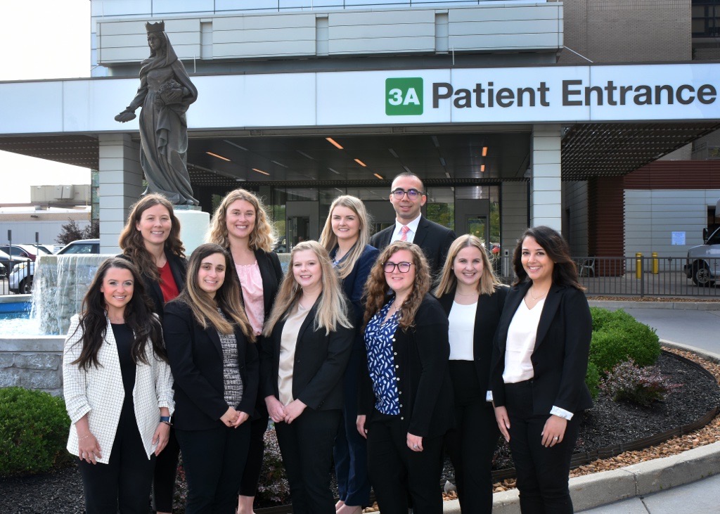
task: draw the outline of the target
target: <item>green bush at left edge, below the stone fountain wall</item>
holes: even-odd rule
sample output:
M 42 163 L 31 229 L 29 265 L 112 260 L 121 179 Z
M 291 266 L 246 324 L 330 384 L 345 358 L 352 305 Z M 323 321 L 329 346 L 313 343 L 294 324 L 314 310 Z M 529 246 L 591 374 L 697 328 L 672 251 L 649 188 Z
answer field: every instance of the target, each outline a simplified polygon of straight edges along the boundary
M 62 398 L 22 387 L 0 389 L 0 476 L 66 464 L 70 418 Z

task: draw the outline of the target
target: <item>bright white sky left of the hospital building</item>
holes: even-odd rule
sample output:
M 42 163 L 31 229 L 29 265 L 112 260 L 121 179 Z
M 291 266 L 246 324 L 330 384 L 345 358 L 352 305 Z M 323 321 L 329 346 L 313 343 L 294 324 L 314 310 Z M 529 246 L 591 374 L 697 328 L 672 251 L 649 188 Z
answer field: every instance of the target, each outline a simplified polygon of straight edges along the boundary
M 90 0 L 2 0 L 0 17 L 0 81 L 90 76 Z M 30 186 L 90 184 L 86 168 L 3 151 L 0 176 L 0 205 L 29 203 Z

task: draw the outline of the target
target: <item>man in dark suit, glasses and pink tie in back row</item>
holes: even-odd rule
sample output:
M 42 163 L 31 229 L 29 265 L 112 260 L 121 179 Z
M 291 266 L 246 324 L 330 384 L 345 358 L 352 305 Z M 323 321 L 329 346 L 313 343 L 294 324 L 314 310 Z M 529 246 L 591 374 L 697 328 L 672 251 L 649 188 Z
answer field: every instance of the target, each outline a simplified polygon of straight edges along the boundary
M 400 173 L 392 181 L 390 203 L 395 208 L 395 225 L 380 230 L 372 236 L 370 244 L 378 250 L 393 241 L 402 240 L 415 243 L 428 258 L 433 276 L 437 276 L 445 263 L 455 233 L 448 227 L 433 223 L 420 215 L 420 207 L 428 197 L 420 177 L 414 173 Z

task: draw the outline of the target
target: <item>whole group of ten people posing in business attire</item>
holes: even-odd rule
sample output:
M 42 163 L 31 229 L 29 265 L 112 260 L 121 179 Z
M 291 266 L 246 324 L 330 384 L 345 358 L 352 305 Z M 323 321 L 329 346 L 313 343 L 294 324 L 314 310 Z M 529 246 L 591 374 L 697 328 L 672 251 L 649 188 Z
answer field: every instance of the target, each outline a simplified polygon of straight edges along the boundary
M 231 191 L 186 262 L 172 205 L 132 208 L 99 267 L 63 360 L 86 512 L 251 514 L 274 422 L 293 512 L 439 514 L 444 454 L 464 513 L 492 510 L 502 434 L 523 513 L 570 513 L 570 456 L 590 407 L 588 302 L 567 243 L 526 230 L 517 280 L 482 241 L 420 214 L 422 181 L 392 182 L 395 225 L 330 206 L 319 241 L 282 273 L 261 200 Z M 330 489 L 335 467 L 339 500 Z

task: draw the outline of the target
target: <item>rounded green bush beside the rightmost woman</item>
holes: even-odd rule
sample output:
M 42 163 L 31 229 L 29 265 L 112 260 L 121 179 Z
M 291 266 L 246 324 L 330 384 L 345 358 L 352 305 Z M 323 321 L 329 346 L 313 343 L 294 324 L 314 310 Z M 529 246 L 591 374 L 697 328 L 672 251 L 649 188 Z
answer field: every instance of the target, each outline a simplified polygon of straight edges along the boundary
M 604 311 L 604 312 L 603 312 Z M 593 340 L 590 362 L 600 374 L 632 359 L 638 366 L 651 366 L 660 357 L 660 338 L 655 330 L 619 310 L 593 309 Z

